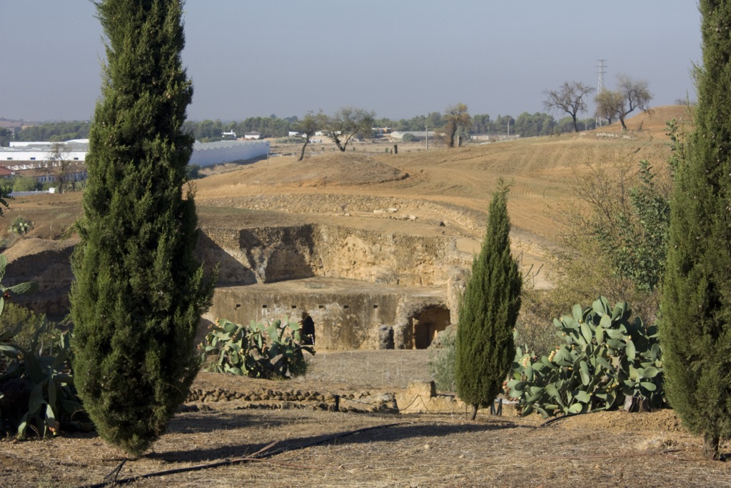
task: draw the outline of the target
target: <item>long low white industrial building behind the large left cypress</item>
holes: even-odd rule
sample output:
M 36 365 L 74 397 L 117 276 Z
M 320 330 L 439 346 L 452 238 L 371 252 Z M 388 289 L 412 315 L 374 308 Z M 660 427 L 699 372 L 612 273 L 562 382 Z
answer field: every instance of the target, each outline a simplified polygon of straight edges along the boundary
M 88 139 L 61 143 L 11 141 L 10 147 L 0 147 L 0 165 L 11 170 L 48 168 L 53 165 L 53 152 L 64 161 L 86 161 Z M 216 143 L 194 143 L 190 164 L 211 166 L 223 162 L 256 159 L 269 154 L 268 140 L 221 140 Z

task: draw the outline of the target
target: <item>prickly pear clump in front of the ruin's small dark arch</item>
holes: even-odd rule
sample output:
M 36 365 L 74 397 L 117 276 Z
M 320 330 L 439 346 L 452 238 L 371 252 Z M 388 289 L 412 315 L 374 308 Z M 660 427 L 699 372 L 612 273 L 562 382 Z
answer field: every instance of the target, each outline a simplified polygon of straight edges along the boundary
M 204 359 L 215 356 L 208 364 L 214 372 L 230 372 L 250 378 L 291 378 L 303 375 L 307 364 L 304 352 L 314 348 L 302 344 L 300 323 L 268 320 L 242 326 L 219 319 L 211 326 L 203 344 Z

